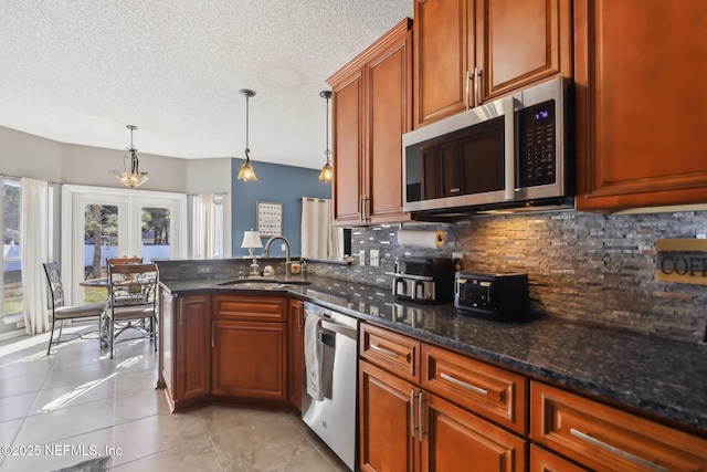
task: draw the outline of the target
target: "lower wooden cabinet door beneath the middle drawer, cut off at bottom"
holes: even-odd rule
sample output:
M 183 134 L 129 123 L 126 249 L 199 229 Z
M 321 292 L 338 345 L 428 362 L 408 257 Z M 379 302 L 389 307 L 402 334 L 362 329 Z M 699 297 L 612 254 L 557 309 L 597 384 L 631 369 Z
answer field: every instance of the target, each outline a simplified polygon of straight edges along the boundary
M 526 440 L 434 395 L 421 395 L 421 471 L 526 470 Z

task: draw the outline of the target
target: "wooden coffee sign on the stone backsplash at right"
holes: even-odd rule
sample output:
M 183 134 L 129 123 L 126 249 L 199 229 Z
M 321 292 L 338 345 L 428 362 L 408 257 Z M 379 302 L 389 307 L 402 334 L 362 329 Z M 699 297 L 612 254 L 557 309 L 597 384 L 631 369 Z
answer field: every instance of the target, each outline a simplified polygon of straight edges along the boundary
M 658 281 L 707 285 L 707 239 L 655 241 Z

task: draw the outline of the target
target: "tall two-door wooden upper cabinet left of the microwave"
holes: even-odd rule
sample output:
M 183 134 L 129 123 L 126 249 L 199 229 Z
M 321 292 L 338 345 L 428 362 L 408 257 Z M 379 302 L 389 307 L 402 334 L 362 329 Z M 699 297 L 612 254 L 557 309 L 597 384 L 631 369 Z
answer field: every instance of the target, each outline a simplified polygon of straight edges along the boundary
M 333 92 L 336 224 L 407 221 L 402 134 L 412 129 L 412 20 L 327 80 Z

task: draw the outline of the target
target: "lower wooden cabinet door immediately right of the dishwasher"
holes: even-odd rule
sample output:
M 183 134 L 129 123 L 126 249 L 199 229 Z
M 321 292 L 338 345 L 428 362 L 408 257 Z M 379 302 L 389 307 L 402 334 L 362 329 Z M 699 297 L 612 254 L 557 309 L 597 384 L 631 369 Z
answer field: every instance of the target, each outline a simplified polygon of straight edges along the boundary
M 363 472 L 412 472 L 415 466 L 414 416 L 418 389 L 359 363 L 359 454 Z M 440 471 L 444 469 L 439 469 Z

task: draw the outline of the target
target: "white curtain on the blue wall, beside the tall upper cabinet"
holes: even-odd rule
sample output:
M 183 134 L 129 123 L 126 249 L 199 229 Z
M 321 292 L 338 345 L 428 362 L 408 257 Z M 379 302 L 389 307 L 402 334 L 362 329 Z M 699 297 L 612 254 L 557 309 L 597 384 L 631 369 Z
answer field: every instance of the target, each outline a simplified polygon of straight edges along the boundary
M 302 256 L 340 259 L 344 255 L 342 228 L 334 228 L 330 199 L 302 199 Z

